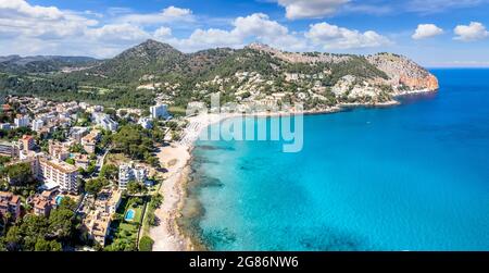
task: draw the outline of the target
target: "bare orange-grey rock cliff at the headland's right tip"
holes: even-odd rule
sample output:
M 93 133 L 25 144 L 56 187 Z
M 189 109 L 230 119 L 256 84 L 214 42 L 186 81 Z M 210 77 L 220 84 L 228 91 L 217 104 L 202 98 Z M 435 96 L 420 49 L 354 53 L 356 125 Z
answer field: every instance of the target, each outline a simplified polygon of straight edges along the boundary
M 429 90 L 439 88 L 438 79 L 424 67 L 414 63 L 405 57 L 380 53 L 368 55 L 368 62 L 389 76 L 392 86 L 409 87 L 410 90 Z

